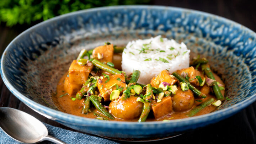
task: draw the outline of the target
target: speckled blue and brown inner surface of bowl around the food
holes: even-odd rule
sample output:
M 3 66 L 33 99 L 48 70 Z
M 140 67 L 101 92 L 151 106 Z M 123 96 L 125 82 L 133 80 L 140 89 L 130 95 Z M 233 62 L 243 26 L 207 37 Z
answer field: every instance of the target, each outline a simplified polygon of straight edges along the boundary
M 158 35 L 184 42 L 209 59 L 231 98 L 218 110 L 255 96 L 255 33 L 218 16 L 173 7 L 106 7 L 53 18 L 12 41 L 1 69 L 18 92 L 58 110 L 53 98 L 57 82 L 82 48 L 105 42 L 125 46 Z

